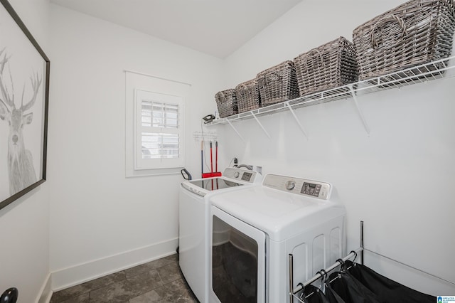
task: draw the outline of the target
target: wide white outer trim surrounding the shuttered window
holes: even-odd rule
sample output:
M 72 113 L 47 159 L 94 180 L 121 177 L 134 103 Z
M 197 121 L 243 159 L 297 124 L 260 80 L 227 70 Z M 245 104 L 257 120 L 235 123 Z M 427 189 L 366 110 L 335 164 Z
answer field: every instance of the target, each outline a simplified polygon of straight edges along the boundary
M 127 177 L 136 177 L 136 176 L 156 176 L 156 175 L 168 175 L 168 174 L 180 174 L 181 169 L 184 166 L 184 142 L 185 142 L 185 103 L 188 100 L 190 93 L 191 84 L 183 83 L 174 80 L 168 80 L 153 75 L 146 75 L 144 73 L 137 73 L 129 70 L 125 70 L 125 175 Z M 181 97 L 183 102 L 183 124 L 181 124 L 183 129 L 183 135 L 181 142 L 183 144 L 182 157 L 183 162 L 181 165 L 176 165 L 175 167 L 156 167 L 154 169 L 136 169 L 137 165 L 135 163 L 135 153 L 137 152 L 136 143 L 137 143 L 137 127 L 136 127 L 136 91 L 144 90 L 148 92 L 157 92 L 162 95 L 173 95 Z M 173 165 L 171 165 L 173 166 Z

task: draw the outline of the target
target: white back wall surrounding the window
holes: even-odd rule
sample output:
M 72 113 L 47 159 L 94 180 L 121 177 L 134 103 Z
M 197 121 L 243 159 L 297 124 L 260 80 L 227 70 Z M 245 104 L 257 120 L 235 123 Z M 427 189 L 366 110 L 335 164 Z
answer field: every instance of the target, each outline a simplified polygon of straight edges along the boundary
M 180 174 L 125 177 L 125 74 L 191 84 L 186 167 L 199 171 L 200 117 L 223 61 L 50 5 L 49 179 L 53 289 L 175 252 Z M 214 76 L 215 75 L 215 76 Z

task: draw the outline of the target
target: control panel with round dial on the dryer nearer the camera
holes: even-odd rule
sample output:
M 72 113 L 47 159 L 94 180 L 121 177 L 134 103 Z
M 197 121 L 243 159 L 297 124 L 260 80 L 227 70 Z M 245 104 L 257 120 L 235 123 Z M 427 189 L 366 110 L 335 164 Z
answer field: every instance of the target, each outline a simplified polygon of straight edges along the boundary
M 322 200 L 328 200 L 332 189 L 331 184 L 326 182 L 274 174 L 268 174 L 265 176 L 262 185 L 269 188 L 275 188 L 280 191 L 311 196 Z

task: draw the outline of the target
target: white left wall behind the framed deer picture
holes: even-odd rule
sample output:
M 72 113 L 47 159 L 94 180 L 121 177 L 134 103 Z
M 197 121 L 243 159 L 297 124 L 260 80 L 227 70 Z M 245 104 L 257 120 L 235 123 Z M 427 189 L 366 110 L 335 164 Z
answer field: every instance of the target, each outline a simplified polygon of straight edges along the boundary
M 48 53 L 48 0 L 9 2 Z M 4 123 L 0 122 L 0 127 L 5 127 Z M 37 302 L 41 294 L 49 294 L 45 288 L 49 276 L 48 189 L 45 182 L 0 210 L 0 294 L 17 287 L 19 303 Z

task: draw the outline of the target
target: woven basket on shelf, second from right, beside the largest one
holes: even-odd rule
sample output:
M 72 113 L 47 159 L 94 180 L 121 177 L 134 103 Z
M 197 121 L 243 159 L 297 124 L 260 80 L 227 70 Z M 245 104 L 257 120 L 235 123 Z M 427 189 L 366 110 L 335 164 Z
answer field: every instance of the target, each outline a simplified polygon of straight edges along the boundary
M 353 43 L 340 37 L 294 59 L 301 96 L 358 80 Z

